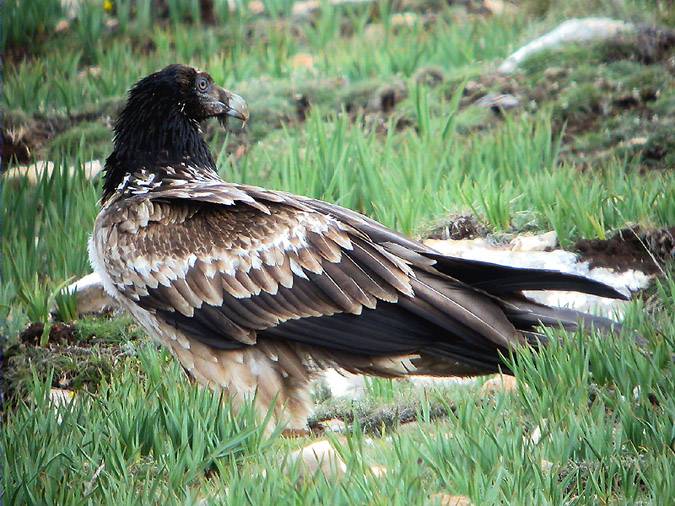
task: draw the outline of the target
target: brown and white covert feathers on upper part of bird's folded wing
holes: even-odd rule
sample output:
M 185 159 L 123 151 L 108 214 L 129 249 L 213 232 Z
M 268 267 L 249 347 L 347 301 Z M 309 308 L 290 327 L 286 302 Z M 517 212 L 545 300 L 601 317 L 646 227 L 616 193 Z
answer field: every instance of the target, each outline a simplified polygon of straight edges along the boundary
M 405 262 L 321 213 L 277 202 L 265 202 L 267 212 L 183 200 L 143 205 L 127 213 L 127 221 L 143 217 L 127 225 L 133 232 L 116 229 L 126 237 L 111 271 L 127 273 L 113 275 L 117 288 L 212 345 L 251 345 L 256 333 L 288 320 L 359 315 L 412 294 Z

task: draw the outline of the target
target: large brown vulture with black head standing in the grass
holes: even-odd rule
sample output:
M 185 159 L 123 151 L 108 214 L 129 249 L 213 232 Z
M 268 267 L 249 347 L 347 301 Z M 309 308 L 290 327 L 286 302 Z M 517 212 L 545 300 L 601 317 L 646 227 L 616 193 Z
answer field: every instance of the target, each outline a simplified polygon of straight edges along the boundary
M 356 211 L 223 180 L 201 129 L 209 118 L 227 126 L 249 112 L 207 72 L 173 64 L 131 87 L 89 256 L 108 294 L 235 409 L 253 402 L 302 431 L 310 383 L 327 368 L 512 374 L 504 358 L 545 346 L 542 327 L 615 328 L 523 294 L 627 298 L 605 284 L 443 255 Z

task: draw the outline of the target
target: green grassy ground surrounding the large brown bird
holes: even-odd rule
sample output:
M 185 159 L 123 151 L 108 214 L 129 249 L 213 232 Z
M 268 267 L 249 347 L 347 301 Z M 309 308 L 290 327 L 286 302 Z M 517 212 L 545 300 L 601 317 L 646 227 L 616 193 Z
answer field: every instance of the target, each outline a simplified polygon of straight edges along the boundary
M 570 335 L 525 353 L 516 392 L 422 395 L 375 380 L 359 402 L 317 394 L 317 416 L 351 422 L 333 438 L 348 464 L 337 482 L 298 483 L 288 456 L 305 441 L 262 435 L 249 411 L 234 415 L 185 381 L 127 317 L 77 320 L 62 293 L 89 272 L 99 182 L 82 164 L 109 152 L 129 85 L 177 61 L 249 102 L 247 130 L 206 128 L 229 180 L 324 198 L 413 235 L 453 213 L 497 234 L 554 229 L 570 249 L 629 225 L 673 227 L 672 44 L 627 36 L 549 52 L 512 76 L 495 71 L 570 13 L 672 27 L 668 2 L 531 0 L 498 15 L 480 1 L 326 3 L 301 16 L 290 1 L 265 1 L 256 14 L 253 3 L 230 12 L 215 0 L 215 24 L 190 2 L 158 3 L 165 8 L 85 1 L 67 26 L 58 2 L 4 5 L 4 159 L 55 162 L 37 184 L 1 189 L 6 504 L 675 497 L 675 275 L 660 260 L 663 274 L 631 303 L 625 336 Z M 487 93 L 521 105 L 475 105 Z M 50 320 L 54 307 L 63 323 Z M 57 412 L 52 386 L 76 390 L 76 401 Z M 373 475 L 373 464 L 388 473 Z

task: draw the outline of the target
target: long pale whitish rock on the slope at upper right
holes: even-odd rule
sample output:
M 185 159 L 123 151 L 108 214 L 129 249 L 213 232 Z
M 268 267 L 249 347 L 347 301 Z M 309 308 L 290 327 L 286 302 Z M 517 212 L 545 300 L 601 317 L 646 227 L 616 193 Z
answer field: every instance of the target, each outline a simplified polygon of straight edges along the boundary
M 554 49 L 574 42 L 590 42 L 613 39 L 634 32 L 635 26 L 625 21 L 610 18 L 577 18 L 561 23 L 557 28 L 533 40 L 511 54 L 499 66 L 499 72 L 510 74 L 530 56 L 547 49 Z

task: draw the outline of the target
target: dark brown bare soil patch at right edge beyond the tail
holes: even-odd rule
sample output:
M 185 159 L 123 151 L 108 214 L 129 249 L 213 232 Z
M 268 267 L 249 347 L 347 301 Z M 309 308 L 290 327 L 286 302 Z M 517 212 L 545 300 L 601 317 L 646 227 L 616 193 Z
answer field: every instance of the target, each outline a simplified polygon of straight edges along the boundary
M 581 239 L 574 248 L 591 268 L 609 267 L 619 272 L 635 269 L 660 274 L 667 262 L 675 260 L 675 227 L 620 230 L 609 239 Z

